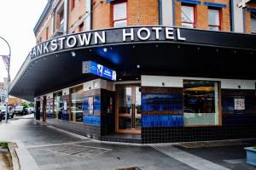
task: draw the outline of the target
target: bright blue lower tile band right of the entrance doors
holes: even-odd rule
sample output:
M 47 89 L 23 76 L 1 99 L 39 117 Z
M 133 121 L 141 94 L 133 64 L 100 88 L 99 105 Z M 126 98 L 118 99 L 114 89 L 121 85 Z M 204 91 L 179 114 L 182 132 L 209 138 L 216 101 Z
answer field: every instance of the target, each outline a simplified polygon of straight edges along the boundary
M 183 127 L 183 116 L 143 115 L 142 127 Z

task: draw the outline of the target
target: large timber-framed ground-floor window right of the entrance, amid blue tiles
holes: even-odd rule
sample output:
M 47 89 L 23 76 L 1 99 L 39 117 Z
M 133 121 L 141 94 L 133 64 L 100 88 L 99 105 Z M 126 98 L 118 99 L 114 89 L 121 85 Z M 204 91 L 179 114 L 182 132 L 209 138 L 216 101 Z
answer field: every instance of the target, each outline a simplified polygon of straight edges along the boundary
M 183 81 L 184 125 L 219 125 L 218 82 Z

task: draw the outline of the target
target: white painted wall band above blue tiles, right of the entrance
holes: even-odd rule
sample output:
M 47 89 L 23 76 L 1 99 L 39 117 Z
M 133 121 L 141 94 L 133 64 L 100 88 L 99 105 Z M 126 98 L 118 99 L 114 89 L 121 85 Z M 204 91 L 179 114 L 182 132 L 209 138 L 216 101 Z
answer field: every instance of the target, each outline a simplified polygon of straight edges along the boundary
M 183 88 L 183 80 L 208 80 L 221 82 L 221 88 L 226 89 L 255 89 L 256 80 L 218 79 L 201 77 L 160 77 L 142 76 L 142 86 Z M 165 84 L 163 86 L 163 83 Z M 240 86 L 241 88 L 238 88 Z

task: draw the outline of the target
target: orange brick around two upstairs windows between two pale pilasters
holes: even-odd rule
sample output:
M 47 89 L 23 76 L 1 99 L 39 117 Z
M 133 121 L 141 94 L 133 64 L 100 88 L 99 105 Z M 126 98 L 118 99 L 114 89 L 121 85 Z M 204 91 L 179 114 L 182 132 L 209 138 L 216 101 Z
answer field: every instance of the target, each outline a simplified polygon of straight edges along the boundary
M 201 0 L 200 5 L 195 7 L 196 28 L 208 29 L 208 6 L 204 2 L 226 4 L 227 8 L 220 8 L 221 11 L 221 30 L 230 31 L 230 1 L 229 0 Z M 175 1 L 175 23 L 181 26 L 181 3 Z

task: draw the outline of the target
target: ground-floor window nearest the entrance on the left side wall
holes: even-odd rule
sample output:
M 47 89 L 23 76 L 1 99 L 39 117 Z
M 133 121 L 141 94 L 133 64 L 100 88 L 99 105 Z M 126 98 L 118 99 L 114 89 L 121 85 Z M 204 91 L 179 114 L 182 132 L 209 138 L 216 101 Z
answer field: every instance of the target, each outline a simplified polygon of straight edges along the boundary
M 74 122 L 83 122 L 83 86 L 71 89 L 71 119 Z

